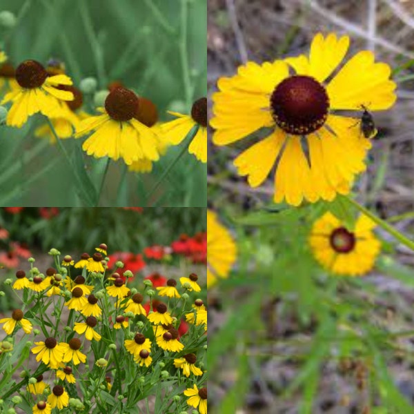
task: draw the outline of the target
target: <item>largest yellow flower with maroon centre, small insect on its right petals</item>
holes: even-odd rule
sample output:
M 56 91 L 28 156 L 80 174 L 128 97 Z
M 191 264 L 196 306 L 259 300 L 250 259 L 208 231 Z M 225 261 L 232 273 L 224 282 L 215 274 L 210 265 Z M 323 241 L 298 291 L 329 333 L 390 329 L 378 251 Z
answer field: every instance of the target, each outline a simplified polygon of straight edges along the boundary
M 395 102 L 395 83 L 386 63 L 357 52 L 342 64 L 349 38 L 318 33 L 309 56 L 259 65 L 248 62 L 237 75 L 221 78 L 213 95 L 213 143 L 232 144 L 261 128 L 272 128 L 234 161 L 252 187 L 275 169 L 274 201 L 332 200 L 349 192 L 365 170 L 371 142 L 360 126 L 363 107 L 385 110 Z M 335 115 L 359 111 L 359 118 Z

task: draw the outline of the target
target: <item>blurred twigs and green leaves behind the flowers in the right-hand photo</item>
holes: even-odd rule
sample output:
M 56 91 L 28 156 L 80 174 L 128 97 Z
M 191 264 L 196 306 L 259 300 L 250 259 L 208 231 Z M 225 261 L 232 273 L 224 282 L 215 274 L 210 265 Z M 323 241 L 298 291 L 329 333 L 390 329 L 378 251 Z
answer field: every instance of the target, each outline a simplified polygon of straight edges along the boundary
M 208 3 L 208 95 L 244 61 L 307 52 L 316 32 L 348 34 L 393 68 L 398 100 L 375 114 L 368 170 L 355 197 L 413 239 L 413 1 Z M 246 144 L 209 147 L 208 200 L 237 240 L 228 279 L 209 291 L 209 408 L 214 413 L 410 413 L 414 406 L 412 250 L 377 230 L 382 253 L 362 278 L 333 277 L 308 235 L 344 199 L 287 208 L 273 182 L 251 189 L 232 160 Z

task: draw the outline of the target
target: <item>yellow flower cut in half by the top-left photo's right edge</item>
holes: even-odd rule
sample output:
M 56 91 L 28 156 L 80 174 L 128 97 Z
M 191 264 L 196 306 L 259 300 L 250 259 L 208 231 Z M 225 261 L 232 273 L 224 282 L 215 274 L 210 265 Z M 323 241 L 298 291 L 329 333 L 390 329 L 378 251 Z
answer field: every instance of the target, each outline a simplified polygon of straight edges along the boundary
M 207 98 L 200 98 L 193 103 L 191 116 L 168 111 L 177 117 L 174 121 L 161 125 L 161 131 L 172 145 L 177 145 L 186 138 L 191 128 L 197 126 L 197 134 L 188 147 L 188 152 L 201 161 L 207 162 Z

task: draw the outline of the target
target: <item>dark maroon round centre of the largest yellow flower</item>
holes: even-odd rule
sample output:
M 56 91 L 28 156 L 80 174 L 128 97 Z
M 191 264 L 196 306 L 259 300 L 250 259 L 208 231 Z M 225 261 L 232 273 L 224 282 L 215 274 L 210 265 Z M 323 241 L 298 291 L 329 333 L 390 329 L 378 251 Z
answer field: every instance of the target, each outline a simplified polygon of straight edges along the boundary
M 324 86 L 309 76 L 291 76 L 280 82 L 270 97 L 273 119 L 293 135 L 310 134 L 326 121 L 329 98 Z

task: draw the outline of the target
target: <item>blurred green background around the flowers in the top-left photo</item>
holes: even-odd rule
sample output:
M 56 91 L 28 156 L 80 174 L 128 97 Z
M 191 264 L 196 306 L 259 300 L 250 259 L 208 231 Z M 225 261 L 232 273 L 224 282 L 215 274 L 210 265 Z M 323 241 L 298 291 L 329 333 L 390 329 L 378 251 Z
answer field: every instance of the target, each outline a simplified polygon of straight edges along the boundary
M 188 114 L 206 96 L 206 1 L 3 0 L 0 50 L 14 66 L 57 59 L 78 88 L 88 78 L 87 112 L 102 105 L 110 83 L 121 82 L 155 103 L 166 121 L 166 110 Z M 34 137 L 41 118 L 0 129 L 1 206 L 206 205 L 206 164 L 179 157 L 185 143 L 168 148 L 151 173 L 112 162 L 101 188 L 106 159 L 87 157 L 81 141 L 66 139 L 80 177 L 74 182 L 59 148 Z

